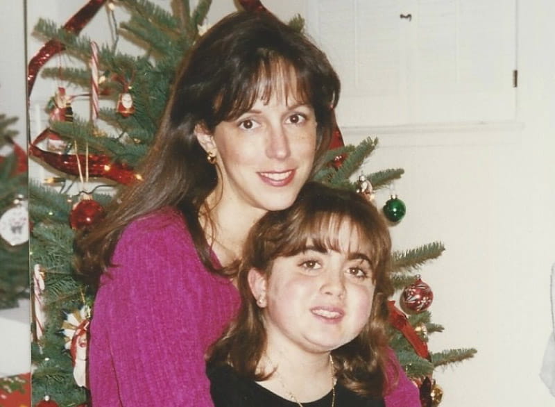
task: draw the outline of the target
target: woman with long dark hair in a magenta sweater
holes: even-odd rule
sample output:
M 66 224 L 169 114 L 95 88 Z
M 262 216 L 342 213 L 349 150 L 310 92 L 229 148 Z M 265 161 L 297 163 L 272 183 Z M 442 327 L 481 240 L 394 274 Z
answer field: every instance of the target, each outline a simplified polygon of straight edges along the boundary
M 144 180 L 76 240 L 96 289 L 94 407 L 212 405 L 204 354 L 239 307 L 230 266 L 321 165 L 339 90 L 325 55 L 269 13 L 234 13 L 196 42 Z

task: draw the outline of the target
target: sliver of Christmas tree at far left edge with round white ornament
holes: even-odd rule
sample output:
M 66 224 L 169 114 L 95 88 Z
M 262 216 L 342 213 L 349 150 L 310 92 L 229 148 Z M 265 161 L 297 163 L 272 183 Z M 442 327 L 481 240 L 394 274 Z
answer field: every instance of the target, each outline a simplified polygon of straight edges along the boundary
M 28 298 L 27 158 L 13 142 L 17 117 L 0 115 L 0 309 Z

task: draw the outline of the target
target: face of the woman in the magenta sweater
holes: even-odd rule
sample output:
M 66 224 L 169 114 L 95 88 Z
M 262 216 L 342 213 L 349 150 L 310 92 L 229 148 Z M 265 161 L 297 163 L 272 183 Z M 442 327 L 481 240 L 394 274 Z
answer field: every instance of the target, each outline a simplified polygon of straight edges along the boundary
M 216 153 L 221 169 L 221 203 L 244 210 L 280 210 L 290 206 L 311 173 L 316 150 L 316 117 L 311 106 L 290 92 L 258 99 L 237 119 L 218 124 L 200 144 Z M 204 142 L 204 144 L 203 144 Z

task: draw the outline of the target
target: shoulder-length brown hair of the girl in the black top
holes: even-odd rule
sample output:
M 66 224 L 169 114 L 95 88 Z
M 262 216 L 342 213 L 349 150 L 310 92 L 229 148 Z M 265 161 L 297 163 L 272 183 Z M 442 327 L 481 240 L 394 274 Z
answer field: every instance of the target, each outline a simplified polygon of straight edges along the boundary
M 360 247 L 370 259 L 375 292 L 370 318 L 357 338 L 332 351 L 337 379 L 361 395 L 381 397 L 386 388 L 388 365 L 387 299 L 393 294 L 388 267 L 391 239 L 382 215 L 356 192 L 309 182 L 295 203 L 285 210 L 266 213 L 248 235 L 237 284 L 241 309 L 225 334 L 212 345 L 208 363 L 229 364 L 241 376 L 255 381 L 268 377 L 257 371 L 266 349 L 262 309 L 248 285 L 248 272 L 269 275 L 273 260 L 294 256 L 307 248 L 337 250 L 348 242 L 337 240 L 337 231 L 348 222 L 358 232 Z M 343 244 L 343 245 L 341 245 Z

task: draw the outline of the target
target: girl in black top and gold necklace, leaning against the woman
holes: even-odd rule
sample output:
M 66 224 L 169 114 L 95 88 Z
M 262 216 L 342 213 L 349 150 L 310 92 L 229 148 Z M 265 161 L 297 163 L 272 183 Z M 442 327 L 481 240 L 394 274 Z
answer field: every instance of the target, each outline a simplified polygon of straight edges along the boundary
M 387 344 L 390 257 L 384 219 L 355 192 L 307 183 L 264 215 L 239 265 L 239 315 L 207 358 L 214 405 L 420 406 Z

